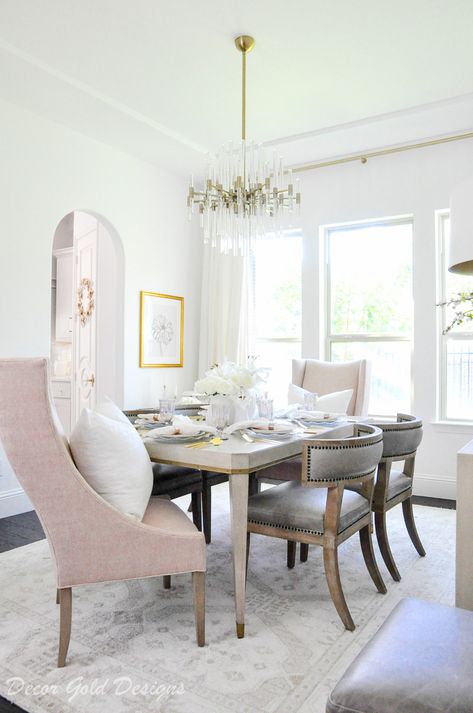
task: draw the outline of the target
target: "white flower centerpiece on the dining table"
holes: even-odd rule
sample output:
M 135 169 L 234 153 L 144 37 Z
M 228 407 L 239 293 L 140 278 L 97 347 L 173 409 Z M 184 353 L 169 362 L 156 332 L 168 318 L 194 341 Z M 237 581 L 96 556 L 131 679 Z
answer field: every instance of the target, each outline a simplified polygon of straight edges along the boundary
M 194 389 L 214 401 L 225 399 L 229 406 L 229 422 L 236 423 L 258 415 L 256 397 L 266 379 L 267 369 L 257 368 L 254 358 L 248 359 L 247 367 L 225 361 L 206 371 L 204 378 L 195 382 Z

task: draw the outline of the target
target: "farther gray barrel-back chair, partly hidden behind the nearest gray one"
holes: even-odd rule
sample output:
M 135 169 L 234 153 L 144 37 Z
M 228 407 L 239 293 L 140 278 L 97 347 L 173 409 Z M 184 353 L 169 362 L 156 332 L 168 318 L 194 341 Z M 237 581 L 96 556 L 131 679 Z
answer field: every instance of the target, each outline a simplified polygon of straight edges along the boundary
M 371 423 L 371 422 L 370 422 Z M 376 537 L 381 555 L 392 578 L 399 582 L 401 575 L 396 567 L 386 528 L 386 513 L 402 503 L 404 522 L 412 544 L 421 557 L 425 549 L 417 532 L 412 511 L 412 485 L 417 448 L 422 441 L 422 421 L 416 416 L 398 413 L 395 422 L 373 422 L 383 432 L 383 456 L 373 493 L 373 512 Z M 393 463 L 403 461 L 402 470 Z

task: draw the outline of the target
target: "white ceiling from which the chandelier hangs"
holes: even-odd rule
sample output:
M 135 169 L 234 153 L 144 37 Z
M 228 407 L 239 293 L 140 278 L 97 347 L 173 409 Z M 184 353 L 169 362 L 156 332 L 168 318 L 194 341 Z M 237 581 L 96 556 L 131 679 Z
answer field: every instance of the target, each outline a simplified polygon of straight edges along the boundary
M 428 126 L 442 108 L 471 124 L 452 107 L 473 98 L 472 30 L 472 0 L 1 0 L 0 98 L 192 167 L 239 138 L 233 38 L 248 33 L 248 134 L 308 161 L 334 127 L 383 115 L 389 137 L 412 107 L 413 138 L 443 131 L 445 116 Z M 330 141 L 326 154 L 347 150 Z

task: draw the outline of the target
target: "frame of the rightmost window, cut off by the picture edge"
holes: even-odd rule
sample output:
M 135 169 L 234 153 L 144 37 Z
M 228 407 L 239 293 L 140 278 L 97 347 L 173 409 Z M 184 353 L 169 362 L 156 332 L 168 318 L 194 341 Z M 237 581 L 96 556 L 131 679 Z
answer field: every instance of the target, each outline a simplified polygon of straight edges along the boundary
M 446 249 L 446 234 L 445 222 L 450 219 L 450 210 L 443 208 L 435 211 L 435 232 L 437 243 L 437 303 L 447 300 L 447 272 L 448 272 L 448 254 Z M 438 308 L 437 315 L 437 339 L 438 339 L 438 356 L 437 356 L 437 418 L 441 423 L 448 424 L 473 424 L 473 418 L 459 418 L 447 416 L 447 398 L 448 398 L 448 359 L 447 349 L 450 341 L 463 341 L 473 339 L 473 329 L 468 332 L 449 332 L 444 334 L 444 329 L 447 326 L 447 309 L 446 307 Z

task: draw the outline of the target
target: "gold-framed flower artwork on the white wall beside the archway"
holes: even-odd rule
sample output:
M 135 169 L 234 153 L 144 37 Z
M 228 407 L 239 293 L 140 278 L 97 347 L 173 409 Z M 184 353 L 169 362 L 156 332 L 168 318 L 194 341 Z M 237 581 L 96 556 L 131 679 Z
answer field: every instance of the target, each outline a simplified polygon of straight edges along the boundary
M 140 367 L 184 363 L 184 297 L 140 292 Z

